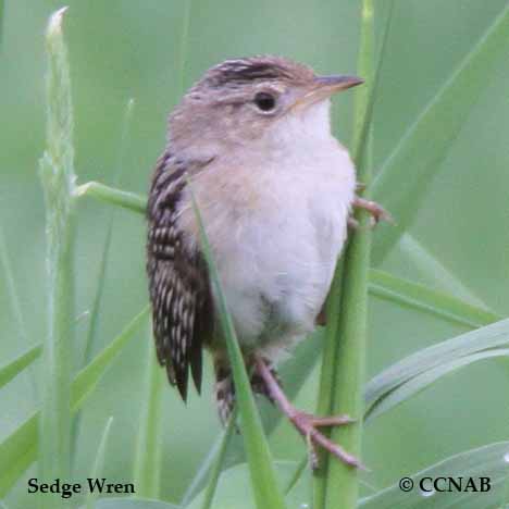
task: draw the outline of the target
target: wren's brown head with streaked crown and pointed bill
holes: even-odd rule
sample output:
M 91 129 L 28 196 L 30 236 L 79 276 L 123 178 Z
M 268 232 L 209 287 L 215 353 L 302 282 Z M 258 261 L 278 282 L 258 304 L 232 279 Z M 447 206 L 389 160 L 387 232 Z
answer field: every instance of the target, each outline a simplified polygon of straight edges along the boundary
M 361 83 L 356 76 L 318 76 L 278 57 L 226 60 L 210 69 L 171 115 L 170 142 L 214 151 L 278 144 L 296 131 L 328 134 L 330 97 Z

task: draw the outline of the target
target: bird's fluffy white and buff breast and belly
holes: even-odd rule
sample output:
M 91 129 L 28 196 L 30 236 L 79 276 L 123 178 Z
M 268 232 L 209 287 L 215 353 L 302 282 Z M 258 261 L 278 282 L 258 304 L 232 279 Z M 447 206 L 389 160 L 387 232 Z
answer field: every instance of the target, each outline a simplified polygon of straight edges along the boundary
M 355 193 L 328 104 L 287 115 L 263 146 L 203 172 L 195 195 L 244 347 L 314 327 L 346 238 Z M 221 166 L 223 164 L 223 166 Z

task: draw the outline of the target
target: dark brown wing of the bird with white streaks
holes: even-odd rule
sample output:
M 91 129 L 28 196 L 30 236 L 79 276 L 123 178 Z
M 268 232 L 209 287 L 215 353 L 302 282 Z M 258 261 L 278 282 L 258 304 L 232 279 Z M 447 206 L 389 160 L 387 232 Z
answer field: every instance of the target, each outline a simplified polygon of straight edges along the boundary
M 165 152 L 156 166 L 147 212 L 147 273 L 158 360 L 184 401 L 189 368 L 200 392 L 202 342 L 213 320 L 207 265 L 198 250 L 184 248 L 176 218 L 186 174 L 204 164 Z

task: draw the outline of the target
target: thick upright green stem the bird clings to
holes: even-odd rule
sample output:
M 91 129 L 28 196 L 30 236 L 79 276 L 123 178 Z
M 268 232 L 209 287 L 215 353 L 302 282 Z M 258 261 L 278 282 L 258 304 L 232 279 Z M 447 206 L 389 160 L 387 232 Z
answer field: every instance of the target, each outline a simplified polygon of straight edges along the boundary
M 388 18 L 390 21 L 390 16 Z M 384 36 L 387 34 L 386 32 Z M 371 115 L 373 95 L 384 52 L 381 52 L 377 70 L 374 70 L 374 3 L 363 0 L 361 8 L 361 44 L 359 49 L 359 75 L 368 86 L 356 96 L 352 153 L 356 154 L 358 181 L 365 184 L 369 198 L 371 181 Z M 368 271 L 370 265 L 371 232 L 365 211 L 358 211 L 356 219 L 360 228 L 352 235 L 344 256 L 344 275 L 340 315 L 337 324 L 338 342 L 334 375 L 331 381 L 332 413 L 347 413 L 357 422 L 332 430 L 333 440 L 359 456 L 362 433 L 362 382 L 365 364 L 368 318 Z M 339 309 L 339 308 L 338 308 Z M 337 310 L 336 310 L 337 313 Z M 322 455 L 322 461 L 324 456 Z M 357 506 L 359 492 L 358 473 L 340 461 L 326 458 L 325 489 L 315 482 L 314 507 L 316 509 L 352 509 Z

